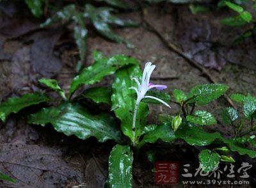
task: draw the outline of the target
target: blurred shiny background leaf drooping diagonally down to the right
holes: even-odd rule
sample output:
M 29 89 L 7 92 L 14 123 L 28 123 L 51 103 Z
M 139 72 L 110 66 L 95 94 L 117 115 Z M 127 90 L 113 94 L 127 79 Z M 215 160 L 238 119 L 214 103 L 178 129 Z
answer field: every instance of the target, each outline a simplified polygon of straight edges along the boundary
M 130 42 L 128 42 L 125 38 L 116 35 L 109 27 L 108 22 L 102 19 L 104 15 L 100 16 L 99 14 L 100 12 L 97 10 L 97 8 L 92 6 L 92 4 L 86 4 L 86 13 L 84 14 L 84 16 L 86 17 L 88 15 L 88 17 L 92 20 L 93 26 L 102 36 L 105 36 L 109 40 L 113 40 L 117 43 L 124 42 L 127 45 L 127 47 L 133 47 L 133 45 Z

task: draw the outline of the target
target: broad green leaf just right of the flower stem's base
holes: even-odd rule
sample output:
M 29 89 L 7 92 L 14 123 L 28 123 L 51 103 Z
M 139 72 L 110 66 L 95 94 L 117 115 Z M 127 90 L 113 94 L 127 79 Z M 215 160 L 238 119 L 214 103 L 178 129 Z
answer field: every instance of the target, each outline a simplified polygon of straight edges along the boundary
M 142 141 L 145 143 L 156 143 L 158 139 L 164 142 L 171 142 L 176 139 L 170 123 L 158 125 L 156 129 L 145 134 Z

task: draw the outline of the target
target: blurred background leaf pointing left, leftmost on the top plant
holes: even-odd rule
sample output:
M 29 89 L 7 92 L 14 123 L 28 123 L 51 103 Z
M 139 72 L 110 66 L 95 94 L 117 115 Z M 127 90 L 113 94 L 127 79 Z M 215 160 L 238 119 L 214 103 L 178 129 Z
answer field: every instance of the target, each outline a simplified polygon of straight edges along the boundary
M 51 18 L 47 19 L 41 24 L 41 27 L 51 26 L 52 24 L 60 23 L 63 20 L 67 22 L 72 19 L 74 15 L 76 15 L 76 6 L 75 4 L 69 4 L 65 6 L 63 10 L 56 12 Z

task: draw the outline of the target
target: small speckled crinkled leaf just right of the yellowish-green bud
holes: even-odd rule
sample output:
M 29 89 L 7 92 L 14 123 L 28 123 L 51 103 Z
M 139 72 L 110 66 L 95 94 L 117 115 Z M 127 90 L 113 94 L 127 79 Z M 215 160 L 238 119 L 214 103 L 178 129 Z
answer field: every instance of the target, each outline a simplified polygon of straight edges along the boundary
M 188 115 L 187 121 L 198 125 L 214 125 L 216 118 L 207 111 L 195 111 L 193 115 Z

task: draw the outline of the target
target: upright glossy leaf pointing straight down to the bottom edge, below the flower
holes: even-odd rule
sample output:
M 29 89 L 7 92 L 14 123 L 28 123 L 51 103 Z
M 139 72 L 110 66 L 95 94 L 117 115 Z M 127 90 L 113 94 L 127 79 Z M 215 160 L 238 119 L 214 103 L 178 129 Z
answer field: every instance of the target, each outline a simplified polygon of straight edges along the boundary
M 114 146 L 109 155 L 109 184 L 111 187 L 132 187 L 132 161 L 132 151 L 129 146 Z

